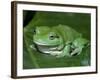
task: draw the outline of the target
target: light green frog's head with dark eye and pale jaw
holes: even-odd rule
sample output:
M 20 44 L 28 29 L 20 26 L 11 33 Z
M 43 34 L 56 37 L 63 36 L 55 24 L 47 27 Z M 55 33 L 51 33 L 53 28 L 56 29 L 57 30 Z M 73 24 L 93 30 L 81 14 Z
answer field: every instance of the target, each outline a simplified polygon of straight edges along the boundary
M 33 42 L 43 53 L 50 53 L 52 50 L 56 51 L 59 47 L 63 47 L 63 39 L 57 30 L 47 26 L 34 29 Z

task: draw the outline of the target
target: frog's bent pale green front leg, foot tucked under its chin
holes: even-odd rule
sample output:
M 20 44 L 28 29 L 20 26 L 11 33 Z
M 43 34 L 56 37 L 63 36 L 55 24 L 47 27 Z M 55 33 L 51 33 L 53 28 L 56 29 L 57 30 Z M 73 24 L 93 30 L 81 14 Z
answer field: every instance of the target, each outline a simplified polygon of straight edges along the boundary
M 51 55 L 56 56 L 57 58 L 70 56 L 70 45 L 66 45 L 61 51 L 52 51 Z

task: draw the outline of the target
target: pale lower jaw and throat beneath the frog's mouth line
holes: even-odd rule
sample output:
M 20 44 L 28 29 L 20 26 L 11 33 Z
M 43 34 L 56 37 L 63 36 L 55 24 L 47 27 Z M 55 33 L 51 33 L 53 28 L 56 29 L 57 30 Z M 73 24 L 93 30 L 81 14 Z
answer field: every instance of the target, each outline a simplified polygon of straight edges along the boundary
M 36 48 L 42 53 L 51 53 L 52 51 L 58 51 L 58 45 L 48 46 L 36 44 Z

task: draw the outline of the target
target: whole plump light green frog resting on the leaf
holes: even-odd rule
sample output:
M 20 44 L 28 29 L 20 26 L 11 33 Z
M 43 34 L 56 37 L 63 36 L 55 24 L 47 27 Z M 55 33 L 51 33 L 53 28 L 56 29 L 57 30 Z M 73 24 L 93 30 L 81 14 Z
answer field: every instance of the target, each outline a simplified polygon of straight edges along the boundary
M 73 56 L 80 54 L 88 40 L 66 25 L 53 27 L 37 26 L 33 34 L 32 46 L 42 53 L 51 54 L 56 57 Z

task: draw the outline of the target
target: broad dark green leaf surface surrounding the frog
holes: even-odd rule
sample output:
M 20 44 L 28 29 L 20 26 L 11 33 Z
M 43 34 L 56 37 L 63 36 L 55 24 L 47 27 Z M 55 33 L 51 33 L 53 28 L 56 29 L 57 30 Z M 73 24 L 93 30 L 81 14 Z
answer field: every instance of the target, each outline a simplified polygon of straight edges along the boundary
M 30 48 L 30 45 L 33 44 L 32 30 L 34 29 L 34 26 L 51 27 L 58 24 L 68 25 L 76 31 L 82 33 L 85 38 L 90 40 L 90 14 L 38 11 L 35 12 L 34 16 L 32 17 L 32 20 L 30 20 L 23 28 L 23 69 L 90 65 L 90 47 L 84 48 L 80 55 L 71 58 L 56 58 L 51 55 L 34 51 Z M 27 19 L 27 17 L 25 17 L 25 19 Z

